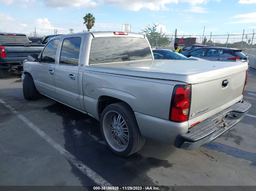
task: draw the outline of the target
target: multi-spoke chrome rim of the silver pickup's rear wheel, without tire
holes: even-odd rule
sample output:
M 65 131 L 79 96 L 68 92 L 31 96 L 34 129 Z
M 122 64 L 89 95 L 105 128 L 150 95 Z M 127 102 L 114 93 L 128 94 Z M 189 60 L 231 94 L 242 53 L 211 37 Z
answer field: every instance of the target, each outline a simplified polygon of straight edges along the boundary
M 124 118 L 116 111 L 110 110 L 103 117 L 103 134 L 108 144 L 115 151 L 124 151 L 129 143 L 129 132 Z

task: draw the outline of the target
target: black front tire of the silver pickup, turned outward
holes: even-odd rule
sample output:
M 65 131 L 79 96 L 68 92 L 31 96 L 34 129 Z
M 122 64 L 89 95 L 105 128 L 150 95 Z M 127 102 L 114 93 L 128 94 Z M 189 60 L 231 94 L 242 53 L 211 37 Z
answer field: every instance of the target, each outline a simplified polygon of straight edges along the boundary
M 42 97 L 35 88 L 34 80 L 30 74 L 26 74 L 23 80 L 23 96 L 25 100 L 37 100 Z

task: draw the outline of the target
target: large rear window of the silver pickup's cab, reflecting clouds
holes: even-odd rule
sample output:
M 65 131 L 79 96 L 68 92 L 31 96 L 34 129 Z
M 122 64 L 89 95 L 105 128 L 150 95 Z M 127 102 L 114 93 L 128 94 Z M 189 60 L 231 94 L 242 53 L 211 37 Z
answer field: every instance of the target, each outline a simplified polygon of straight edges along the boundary
M 98 37 L 91 41 L 89 64 L 153 59 L 145 38 Z

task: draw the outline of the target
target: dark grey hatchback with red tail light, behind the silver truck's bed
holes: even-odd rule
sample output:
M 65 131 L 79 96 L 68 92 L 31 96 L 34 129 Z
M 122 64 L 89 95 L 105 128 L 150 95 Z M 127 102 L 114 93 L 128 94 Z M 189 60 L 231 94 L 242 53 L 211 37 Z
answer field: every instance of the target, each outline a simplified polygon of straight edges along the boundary
M 205 60 L 226 61 L 226 62 L 246 62 L 248 69 L 250 67 L 248 56 L 242 53 L 240 49 L 223 48 L 223 47 L 203 47 L 193 49 L 185 53 L 184 56 L 199 57 Z

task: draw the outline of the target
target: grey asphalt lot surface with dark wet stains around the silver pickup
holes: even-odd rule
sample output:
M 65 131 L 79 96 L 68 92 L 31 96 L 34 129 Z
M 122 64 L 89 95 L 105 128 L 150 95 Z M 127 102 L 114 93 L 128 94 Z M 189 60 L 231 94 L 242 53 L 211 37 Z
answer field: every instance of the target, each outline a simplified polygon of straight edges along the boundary
M 0 79 L 0 100 L 1 186 L 256 186 L 253 68 L 244 94 L 248 115 L 193 151 L 147 139 L 138 153 L 119 157 L 97 120 L 45 96 L 25 100 L 19 74 Z

